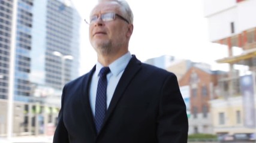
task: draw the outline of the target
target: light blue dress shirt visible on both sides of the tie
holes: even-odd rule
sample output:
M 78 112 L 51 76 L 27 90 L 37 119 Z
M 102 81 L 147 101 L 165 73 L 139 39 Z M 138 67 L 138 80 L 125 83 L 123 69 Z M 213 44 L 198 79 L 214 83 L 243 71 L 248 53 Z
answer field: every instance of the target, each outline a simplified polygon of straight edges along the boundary
M 107 74 L 107 108 L 109 107 L 110 101 L 112 100 L 113 94 L 115 92 L 116 86 L 118 85 L 119 79 L 124 73 L 125 67 L 131 60 L 131 53 L 127 52 L 127 54 L 115 60 L 112 64 L 109 65 L 110 72 Z M 100 70 L 103 66 L 97 62 L 96 70 L 94 75 L 92 76 L 90 91 L 89 91 L 89 101 L 92 108 L 92 114 L 95 115 L 95 101 L 97 94 L 97 85 L 100 76 Z

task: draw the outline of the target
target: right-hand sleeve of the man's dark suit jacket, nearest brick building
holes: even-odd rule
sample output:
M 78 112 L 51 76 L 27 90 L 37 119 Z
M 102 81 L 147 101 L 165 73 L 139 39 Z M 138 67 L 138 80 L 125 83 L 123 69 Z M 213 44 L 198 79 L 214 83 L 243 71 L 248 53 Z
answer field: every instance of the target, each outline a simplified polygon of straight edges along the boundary
M 180 94 L 177 77 L 174 74 L 170 74 L 162 86 L 157 136 L 158 143 L 188 142 L 186 105 Z

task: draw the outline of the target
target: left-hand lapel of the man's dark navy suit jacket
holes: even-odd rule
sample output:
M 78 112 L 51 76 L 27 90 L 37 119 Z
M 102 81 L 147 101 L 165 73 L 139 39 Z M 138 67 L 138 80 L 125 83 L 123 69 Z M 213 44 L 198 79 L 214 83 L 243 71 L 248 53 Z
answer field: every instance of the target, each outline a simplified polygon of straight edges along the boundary
M 82 93 L 80 93 L 82 100 L 82 106 L 83 106 L 83 111 L 85 112 L 85 116 L 87 119 L 87 123 L 93 130 L 93 132 L 96 134 L 96 129 L 94 126 L 94 116 L 92 115 L 92 108 L 91 104 L 89 101 L 89 88 L 90 88 L 90 83 L 92 79 L 92 75 L 94 74 L 96 67 L 94 66 L 91 71 L 84 77 L 83 83 L 82 83 Z

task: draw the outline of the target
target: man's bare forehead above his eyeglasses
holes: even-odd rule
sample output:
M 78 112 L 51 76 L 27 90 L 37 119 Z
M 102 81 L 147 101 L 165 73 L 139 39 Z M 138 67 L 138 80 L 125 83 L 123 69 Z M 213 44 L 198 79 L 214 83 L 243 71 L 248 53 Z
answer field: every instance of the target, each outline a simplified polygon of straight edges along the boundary
M 120 11 L 120 5 L 117 2 L 100 2 L 97 4 L 91 12 L 91 15 L 101 14 L 107 12 L 116 12 Z

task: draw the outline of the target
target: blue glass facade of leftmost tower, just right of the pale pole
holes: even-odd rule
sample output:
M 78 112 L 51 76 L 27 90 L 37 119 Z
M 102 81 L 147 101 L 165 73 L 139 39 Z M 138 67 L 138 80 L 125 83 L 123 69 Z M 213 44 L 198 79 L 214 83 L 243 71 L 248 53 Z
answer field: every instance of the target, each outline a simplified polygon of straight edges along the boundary
M 14 67 L 14 99 L 22 100 L 29 97 L 31 73 L 31 49 L 32 47 L 32 8 L 33 1 L 18 0 L 17 5 L 17 31 L 16 31 L 16 55 Z

